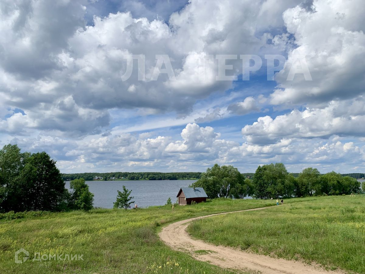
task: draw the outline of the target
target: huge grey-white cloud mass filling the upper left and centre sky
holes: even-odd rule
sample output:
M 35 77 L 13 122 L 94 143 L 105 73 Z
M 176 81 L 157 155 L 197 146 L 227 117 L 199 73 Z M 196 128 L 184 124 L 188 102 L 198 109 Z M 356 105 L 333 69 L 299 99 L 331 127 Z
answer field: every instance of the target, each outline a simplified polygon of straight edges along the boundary
M 105 112 L 110 109 L 154 109 L 186 115 L 196 100 L 231 87 L 230 81 L 216 81 L 208 68 L 205 80 L 196 80 L 199 73 L 191 65 L 196 56 L 203 61 L 207 54 L 253 54 L 262 48 L 282 52 L 281 47 L 268 42 L 267 34 L 254 31 L 272 27 L 262 24 L 270 13 L 268 6 L 252 1 L 209 1 L 209 5 L 191 1 L 172 14 L 168 24 L 161 19 L 136 18 L 131 12 L 116 12 L 95 16 L 93 24 L 87 25 L 84 16 L 90 5 L 85 0 L 56 4 L 45 0 L 17 0 L 16 4 L 3 1 L 0 93 L 5 104 L 27 113 L 18 117 L 24 119 L 23 124 L 38 129 L 46 123 L 34 119 L 45 116 L 47 110 L 62 116 L 55 120 L 75 117 L 67 110 L 53 111 L 57 102 L 70 96 L 75 108 L 93 113 L 86 122 L 88 129 L 80 130 L 84 133 L 99 130 L 101 121 L 107 127 L 110 121 Z M 282 13 L 293 6 L 295 3 L 277 5 L 273 12 Z M 283 24 L 280 19 L 275 27 Z M 176 81 L 168 81 L 164 74 L 150 81 L 155 54 L 161 53 L 170 57 Z M 137 79 L 136 64 L 130 79 L 121 80 L 128 54 L 145 55 L 144 81 Z M 212 69 L 216 65 L 215 60 Z M 237 75 L 240 70 L 232 73 Z M 93 122 L 95 117 L 103 118 Z M 84 123 L 80 119 L 78 126 Z M 54 125 L 66 132 L 77 127 L 60 127 L 57 122 Z

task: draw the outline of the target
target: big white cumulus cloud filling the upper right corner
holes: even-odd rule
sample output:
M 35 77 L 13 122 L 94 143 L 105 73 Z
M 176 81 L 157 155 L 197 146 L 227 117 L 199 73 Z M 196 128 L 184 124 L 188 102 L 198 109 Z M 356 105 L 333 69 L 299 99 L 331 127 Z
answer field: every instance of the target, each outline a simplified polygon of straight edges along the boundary
M 295 37 L 287 66 L 278 72 L 271 103 L 308 104 L 354 98 L 364 93 L 365 7 L 357 1 L 313 1 L 312 10 L 302 6 L 287 9 L 285 26 Z M 318 27 L 320 26 L 320 27 Z M 287 77 L 297 57 L 305 57 L 312 81 L 298 74 Z M 300 65 L 299 65 L 300 66 Z

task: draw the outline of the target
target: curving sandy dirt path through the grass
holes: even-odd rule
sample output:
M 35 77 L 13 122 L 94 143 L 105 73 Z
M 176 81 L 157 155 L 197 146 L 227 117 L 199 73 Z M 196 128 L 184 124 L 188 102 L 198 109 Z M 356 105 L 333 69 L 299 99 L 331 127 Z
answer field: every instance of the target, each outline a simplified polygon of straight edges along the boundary
M 248 210 L 261 210 L 261 209 L 265 208 L 248 209 Z M 304 263 L 293 260 L 274 259 L 269 256 L 247 253 L 230 247 L 214 246 L 212 244 L 205 243 L 204 241 L 201 240 L 192 239 L 192 237 L 186 232 L 186 228 L 188 227 L 189 222 L 193 220 L 198 220 L 201 218 L 216 216 L 220 214 L 237 213 L 248 210 L 211 214 L 207 216 L 195 217 L 183 221 L 174 222 L 168 225 L 167 227 L 164 227 L 160 232 L 159 236 L 162 241 L 164 241 L 168 246 L 172 247 L 174 250 L 187 252 L 197 260 L 206 261 L 223 268 L 233 268 L 239 270 L 255 270 L 255 271 L 260 271 L 261 273 L 270 273 L 270 274 L 342 273 L 340 271 L 327 271 L 321 269 L 318 266 L 305 265 Z M 194 251 L 196 250 L 207 250 L 210 252 L 201 255 L 195 253 Z

